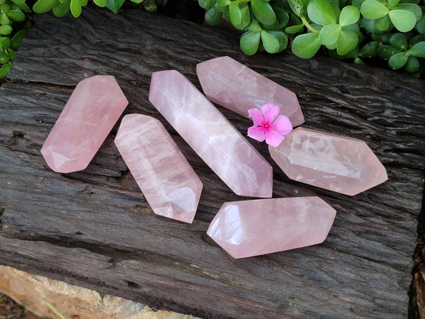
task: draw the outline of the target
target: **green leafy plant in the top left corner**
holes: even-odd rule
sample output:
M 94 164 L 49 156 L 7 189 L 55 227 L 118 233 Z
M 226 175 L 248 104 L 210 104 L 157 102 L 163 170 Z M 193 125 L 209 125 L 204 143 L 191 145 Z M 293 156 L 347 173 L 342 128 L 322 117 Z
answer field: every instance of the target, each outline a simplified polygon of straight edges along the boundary
M 5 78 L 16 50 L 31 25 L 25 0 L 0 0 L 0 78 Z

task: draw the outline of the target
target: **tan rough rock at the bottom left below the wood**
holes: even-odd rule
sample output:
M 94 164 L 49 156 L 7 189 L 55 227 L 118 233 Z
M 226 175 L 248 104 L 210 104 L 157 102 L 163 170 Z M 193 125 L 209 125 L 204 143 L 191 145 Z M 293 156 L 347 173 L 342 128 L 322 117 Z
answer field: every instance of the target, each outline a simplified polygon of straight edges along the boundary
M 0 266 L 0 292 L 42 318 L 192 319 L 191 315 L 156 310 L 142 303 L 104 295 L 63 281 Z M 55 310 L 54 310 L 55 309 Z

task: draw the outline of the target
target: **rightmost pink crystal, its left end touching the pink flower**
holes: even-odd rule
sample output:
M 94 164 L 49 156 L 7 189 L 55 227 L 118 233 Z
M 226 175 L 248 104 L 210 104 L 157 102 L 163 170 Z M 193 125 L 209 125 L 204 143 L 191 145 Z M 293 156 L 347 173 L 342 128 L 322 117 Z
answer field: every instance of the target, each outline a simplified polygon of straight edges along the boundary
M 296 128 L 278 147 L 268 150 L 290 179 L 346 195 L 356 195 L 388 178 L 368 145 L 354 138 Z

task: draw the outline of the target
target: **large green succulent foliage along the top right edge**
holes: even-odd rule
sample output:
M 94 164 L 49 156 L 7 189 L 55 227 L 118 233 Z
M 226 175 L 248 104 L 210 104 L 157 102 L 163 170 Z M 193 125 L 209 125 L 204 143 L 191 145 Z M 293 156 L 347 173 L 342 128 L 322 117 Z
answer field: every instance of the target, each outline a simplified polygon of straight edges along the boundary
M 425 68 L 425 0 L 198 0 L 212 26 L 222 18 L 244 33 L 241 50 L 298 57 L 319 50 L 339 59 L 421 75 Z M 378 62 L 379 64 L 379 62 Z

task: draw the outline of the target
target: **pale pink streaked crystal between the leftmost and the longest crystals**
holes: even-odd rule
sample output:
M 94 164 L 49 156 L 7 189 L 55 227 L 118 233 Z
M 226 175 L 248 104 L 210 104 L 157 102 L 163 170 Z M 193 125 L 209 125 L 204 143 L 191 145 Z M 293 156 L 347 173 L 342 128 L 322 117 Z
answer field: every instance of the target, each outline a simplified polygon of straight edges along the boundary
M 154 213 L 192 223 L 203 185 L 164 125 L 124 116 L 115 145 Z

